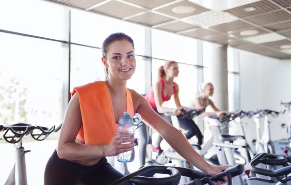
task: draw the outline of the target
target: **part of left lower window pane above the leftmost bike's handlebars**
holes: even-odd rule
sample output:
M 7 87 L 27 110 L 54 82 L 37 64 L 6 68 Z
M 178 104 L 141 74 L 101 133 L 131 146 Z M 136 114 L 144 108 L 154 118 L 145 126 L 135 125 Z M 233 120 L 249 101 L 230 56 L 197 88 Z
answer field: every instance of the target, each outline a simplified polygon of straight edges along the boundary
M 61 123 L 61 43 L 1 32 L 0 40 L 1 123 Z

